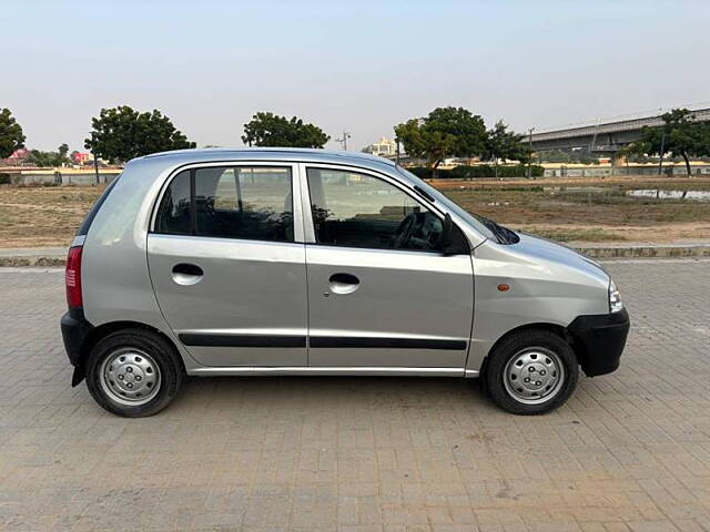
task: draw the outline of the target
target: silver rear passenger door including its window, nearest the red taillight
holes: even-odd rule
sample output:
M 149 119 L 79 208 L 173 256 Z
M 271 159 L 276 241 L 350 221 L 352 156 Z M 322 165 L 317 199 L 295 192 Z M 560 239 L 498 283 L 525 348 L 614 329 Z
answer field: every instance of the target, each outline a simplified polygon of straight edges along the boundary
M 297 172 L 197 165 L 165 188 L 148 236 L 150 275 L 165 319 L 200 364 L 307 365 Z

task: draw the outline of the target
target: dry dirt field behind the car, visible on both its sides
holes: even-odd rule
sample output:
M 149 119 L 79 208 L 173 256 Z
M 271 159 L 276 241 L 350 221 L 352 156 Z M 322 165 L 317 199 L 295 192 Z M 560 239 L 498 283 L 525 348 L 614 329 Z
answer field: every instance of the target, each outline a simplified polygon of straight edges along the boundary
M 469 212 L 558 241 L 710 239 L 710 176 L 437 180 L 433 184 Z M 68 245 L 103 187 L 0 186 L 0 247 Z M 688 197 L 682 197 L 683 192 Z M 709 197 L 689 198 L 699 194 Z

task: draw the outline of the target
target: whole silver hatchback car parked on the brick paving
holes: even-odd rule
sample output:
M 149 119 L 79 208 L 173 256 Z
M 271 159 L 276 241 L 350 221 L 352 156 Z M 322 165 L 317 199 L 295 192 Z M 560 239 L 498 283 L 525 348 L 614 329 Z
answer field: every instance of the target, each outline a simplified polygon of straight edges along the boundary
M 131 161 L 79 228 L 72 386 L 153 415 L 184 376 L 480 377 L 541 413 L 613 371 L 629 330 L 599 264 L 471 215 L 400 166 L 323 150 Z

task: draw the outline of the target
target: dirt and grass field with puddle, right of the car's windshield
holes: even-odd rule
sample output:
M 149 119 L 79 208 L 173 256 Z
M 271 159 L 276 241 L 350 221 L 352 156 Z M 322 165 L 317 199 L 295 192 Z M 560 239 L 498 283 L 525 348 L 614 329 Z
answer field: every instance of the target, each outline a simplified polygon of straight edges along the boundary
M 433 184 L 471 213 L 558 241 L 710 239 L 710 177 L 706 176 L 438 180 Z

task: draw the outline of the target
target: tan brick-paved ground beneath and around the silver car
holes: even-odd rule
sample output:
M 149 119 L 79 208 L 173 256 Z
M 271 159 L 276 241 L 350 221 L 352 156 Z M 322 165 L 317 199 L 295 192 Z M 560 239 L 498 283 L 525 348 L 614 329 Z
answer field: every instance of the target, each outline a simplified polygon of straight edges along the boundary
M 710 530 L 710 262 L 611 264 L 622 367 L 552 415 L 458 379 L 192 380 L 125 420 L 69 387 L 61 273 L 0 273 L 0 529 Z

